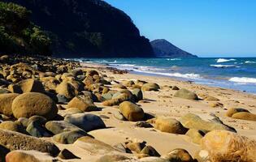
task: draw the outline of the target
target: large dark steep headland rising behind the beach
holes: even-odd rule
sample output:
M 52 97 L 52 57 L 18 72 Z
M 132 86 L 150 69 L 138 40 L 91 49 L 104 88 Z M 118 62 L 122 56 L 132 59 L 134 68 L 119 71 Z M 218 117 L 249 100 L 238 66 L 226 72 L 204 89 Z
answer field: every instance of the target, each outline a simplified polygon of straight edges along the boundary
M 154 57 L 150 41 L 123 11 L 101 0 L 3 0 L 32 11 L 58 57 Z

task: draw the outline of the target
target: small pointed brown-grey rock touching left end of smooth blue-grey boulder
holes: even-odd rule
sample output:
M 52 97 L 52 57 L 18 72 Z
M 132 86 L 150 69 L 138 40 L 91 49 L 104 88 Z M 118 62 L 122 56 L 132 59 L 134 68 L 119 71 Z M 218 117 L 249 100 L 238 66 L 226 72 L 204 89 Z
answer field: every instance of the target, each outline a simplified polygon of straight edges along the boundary
M 72 130 L 81 130 L 79 127 L 65 121 L 46 122 L 46 129 L 52 132 L 53 134 L 60 134 Z

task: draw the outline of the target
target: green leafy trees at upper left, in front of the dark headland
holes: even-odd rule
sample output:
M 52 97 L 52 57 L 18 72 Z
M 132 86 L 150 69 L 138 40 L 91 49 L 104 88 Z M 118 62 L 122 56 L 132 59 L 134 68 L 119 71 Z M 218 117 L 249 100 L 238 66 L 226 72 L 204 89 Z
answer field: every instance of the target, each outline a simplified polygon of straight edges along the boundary
M 0 2 L 0 52 L 50 54 L 50 38 L 29 20 L 25 7 Z

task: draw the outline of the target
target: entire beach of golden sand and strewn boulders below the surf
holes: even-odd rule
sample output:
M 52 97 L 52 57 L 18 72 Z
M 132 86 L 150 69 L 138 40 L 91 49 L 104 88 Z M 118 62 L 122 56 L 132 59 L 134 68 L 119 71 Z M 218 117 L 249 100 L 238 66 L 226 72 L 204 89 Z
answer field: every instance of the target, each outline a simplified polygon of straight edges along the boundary
M 5 59 L 3 71 L 20 74 L 2 71 L 7 161 L 255 160 L 253 94 L 95 63 Z

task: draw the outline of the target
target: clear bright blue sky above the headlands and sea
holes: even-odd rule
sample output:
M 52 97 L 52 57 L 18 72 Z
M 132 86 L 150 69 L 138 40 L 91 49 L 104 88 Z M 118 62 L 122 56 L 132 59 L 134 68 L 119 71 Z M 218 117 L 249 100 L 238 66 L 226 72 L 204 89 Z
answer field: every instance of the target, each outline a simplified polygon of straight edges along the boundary
M 106 0 L 150 40 L 201 57 L 256 57 L 256 0 Z

